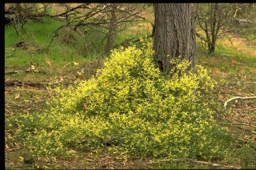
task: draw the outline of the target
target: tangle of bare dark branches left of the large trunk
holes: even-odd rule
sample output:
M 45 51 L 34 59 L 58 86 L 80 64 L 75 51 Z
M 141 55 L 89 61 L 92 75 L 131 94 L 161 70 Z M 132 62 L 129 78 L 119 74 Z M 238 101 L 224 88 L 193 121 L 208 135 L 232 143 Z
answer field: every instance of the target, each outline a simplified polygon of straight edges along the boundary
M 71 6 L 72 5 L 72 6 Z M 140 12 L 146 4 L 140 3 L 83 3 L 83 4 L 7 4 L 5 5 L 6 24 L 11 23 L 17 35 L 21 36 L 19 28 L 23 29 L 23 25 L 28 20 L 37 20 L 42 22 L 45 16 L 56 20 L 62 20 L 63 24 L 55 29 L 55 35 L 51 38 L 50 44 L 45 47 L 48 51 L 55 37 L 65 40 L 66 44 L 75 44 L 77 39 L 74 38 L 78 34 L 79 38 L 86 35 L 86 31 L 97 31 L 97 36 L 102 37 L 101 44 L 91 45 L 93 50 L 103 48 L 103 53 L 108 55 L 109 51 L 114 47 L 114 38 L 119 31 L 130 27 L 137 21 L 145 21 Z M 59 11 L 51 13 L 53 8 Z M 22 19 L 22 20 L 21 20 Z M 18 25 L 17 25 L 18 24 Z M 22 37 L 25 41 L 25 39 Z M 86 47 L 87 48 L 87 47 Z M 88 52 L 88 49 L 84 49 Z M 89 52 L 88 52 L 89 53 Z

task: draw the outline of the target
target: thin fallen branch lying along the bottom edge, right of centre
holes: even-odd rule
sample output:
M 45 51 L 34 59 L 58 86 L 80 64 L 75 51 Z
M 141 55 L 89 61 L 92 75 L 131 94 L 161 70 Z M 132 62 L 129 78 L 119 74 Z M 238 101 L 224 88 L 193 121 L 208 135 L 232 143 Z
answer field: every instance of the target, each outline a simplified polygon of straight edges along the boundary
M 166 160 L 159 160 L 159 162 L 170 162 L 172 159 L 166 159 Z M 203 164 L 203 165 L 209 165 L 213 167 L 223 167 L 223 168 L 229 168 L 229 169 L 241 169 L 241 167 L 236 167 L 236 166 L 230 166 L 230 165 L 223 165 L 223 164 L 213 164 L 209 162 L 204 162 L 201 160 L 196 160 L 196 159 L 174 159 L 175 162 L 191 162 L 191 163 L 196 163 L 196 164 Z

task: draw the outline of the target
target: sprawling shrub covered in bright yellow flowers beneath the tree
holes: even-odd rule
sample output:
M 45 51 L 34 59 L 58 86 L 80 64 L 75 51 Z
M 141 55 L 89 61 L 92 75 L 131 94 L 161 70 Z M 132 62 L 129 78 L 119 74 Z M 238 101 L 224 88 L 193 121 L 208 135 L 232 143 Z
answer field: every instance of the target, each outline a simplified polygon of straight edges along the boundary
M 228 160 L 231 137 L 214 121 L 209 99 L 216 82 L 200 65 L 196 74 L 186 72 L 188 61 L 172 61 L 177 67 L 171 77 L 161 73 L 151 39 L 141 44 L 112 50 L 89 80 L 49 87 L 55 96 L 42 112 L 6 119 L 6 137 L 15 129 L 38 158 L 106 147 L 123 157 Z

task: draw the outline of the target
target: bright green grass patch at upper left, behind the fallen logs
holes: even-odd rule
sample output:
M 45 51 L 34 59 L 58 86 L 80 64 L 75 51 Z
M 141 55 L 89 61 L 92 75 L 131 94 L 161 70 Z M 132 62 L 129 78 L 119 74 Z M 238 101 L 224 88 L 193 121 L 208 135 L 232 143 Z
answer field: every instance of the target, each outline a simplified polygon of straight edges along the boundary
M 39 52 L 39 49 L 46 48 L 54 36 L 54 30 L 58 28 L 60 25 L 62 25 L 63 22 L 56 21 L 50 18 L 45 18 L 41 22 L 33 22 L 28 23 L 23 26 L 23 30 L 19 28 L 19 31 L 21 35 L 25 38 L 25 40 L 29 43 L 29 50 L 28 52 L 25 52 L 22 49 L 13 49 L 16 43 L 22 40 L 20 36 L 18 36 L 15 33 L 15 30 L 13 27 L 8 26 L 5 28 L 5 56 L 15 55 L 16 53 L 24 53 L 28 55 L 34 54 L 38 55 L 36 58 L 38 60 L 44 60 L 45 55 L 47 55 L 47 58 L 51 60 L 56 60 L 56 62 L 63 62 L 63 61 L 71 61 L 71 52 L 73 52 L 75 55 L 73 56 L 74 60 L 83 60 L 85 58 L 94 59 L 95 52 L 99 53 L 97 51 L 97 48 L 89 49 L 89 54 L 86 54 L 87 50 L 85 49 L 86 45 L 90 45 L 90 41 L 85 43 L 87 40 L 91 40 L 95 38 L 95 40 L 99 40 L 101 35 L 99 33 L 91 33 L 90 31 L 87 32 L 88 35 L 78 35 L 78 33 L 68 29 L 63 29 L 59 31 L 59 36 L 56 37 L 50 46 L 50 53 L 48 52 Z M 19 27 L 19 26 L 17 26 Z M 83 31 L 85 28 L 81 28 L 79 31 Z M 75 37 L 76 43 L 73 44 L 65 44 L 63 37 L 65 35 L 71 35 Z M 98 35 L 95 36 L 95 35 Z M 81 36 L 81 37 L 79 37 Z M 95 44 L 99 44 L 99 42 L 95 41 Z M 99 45 L 98 45 L 99 46 Z M 85 53 L 85 55 L 78 55 L 81 53 Z M 28 59 L 28 58 L 25 58 Z M 87 61 L 90 61 L 87 60 Z M 11 61 L 11 60 L 10 60 Z M 5 61 L 6 64 L 9 64 L 9 60 Z M 15 63 L 12 63 L 15 64 Z M 20 63 L 17 63 L 20 64 Z

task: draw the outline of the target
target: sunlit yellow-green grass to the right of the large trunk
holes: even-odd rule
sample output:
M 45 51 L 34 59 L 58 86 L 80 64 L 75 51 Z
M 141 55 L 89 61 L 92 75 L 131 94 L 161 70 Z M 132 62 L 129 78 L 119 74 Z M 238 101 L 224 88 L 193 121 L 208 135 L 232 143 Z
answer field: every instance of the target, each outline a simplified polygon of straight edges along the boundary
M 206 66 L 211 72 L 218 74 L 216 79 L 233 81 L 255 81 L 256 53 L 252 47 L 241 46 L 241 41 L 219 40 L 219 46 L 215 49 L 214 56 L 205 55 L 205 50 L 198 44 L 197 63 Z M 220 76 L 222 74 L 222 76 Z

